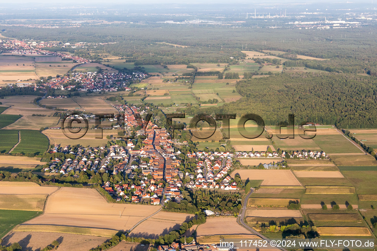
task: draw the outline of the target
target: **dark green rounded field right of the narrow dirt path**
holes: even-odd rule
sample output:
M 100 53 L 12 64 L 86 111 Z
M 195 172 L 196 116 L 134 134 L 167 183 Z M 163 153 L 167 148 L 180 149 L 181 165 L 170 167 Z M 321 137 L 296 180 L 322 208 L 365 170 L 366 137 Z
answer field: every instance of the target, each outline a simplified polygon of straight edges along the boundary
M 37 130 L 20 130 L 20 132 L 21 141 L 12 153 L 38 155 L 47 150 L 49 141 L 46 135 Z

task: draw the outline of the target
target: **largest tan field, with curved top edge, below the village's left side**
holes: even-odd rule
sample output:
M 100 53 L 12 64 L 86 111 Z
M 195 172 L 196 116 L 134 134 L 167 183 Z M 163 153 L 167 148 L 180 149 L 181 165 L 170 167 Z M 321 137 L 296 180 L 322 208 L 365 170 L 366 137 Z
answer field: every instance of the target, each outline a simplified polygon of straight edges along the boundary
M 49 196 L 44 214 L 23 225 L 129 230 L 158 209 L 153 205 L 107 203 L 95 189 L 62 187 Z

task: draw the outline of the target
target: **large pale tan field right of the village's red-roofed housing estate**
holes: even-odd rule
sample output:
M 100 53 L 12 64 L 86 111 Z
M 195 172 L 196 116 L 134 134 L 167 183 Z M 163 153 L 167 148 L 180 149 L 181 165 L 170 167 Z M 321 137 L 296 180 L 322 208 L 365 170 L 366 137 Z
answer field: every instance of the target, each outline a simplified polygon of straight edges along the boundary
M 259 169 L 237 169 L 231 173 L 240 175 L 242 180 L 263 180 L 261 185 L 265 186 L 301 186 L 291 170 L 259 170 Z

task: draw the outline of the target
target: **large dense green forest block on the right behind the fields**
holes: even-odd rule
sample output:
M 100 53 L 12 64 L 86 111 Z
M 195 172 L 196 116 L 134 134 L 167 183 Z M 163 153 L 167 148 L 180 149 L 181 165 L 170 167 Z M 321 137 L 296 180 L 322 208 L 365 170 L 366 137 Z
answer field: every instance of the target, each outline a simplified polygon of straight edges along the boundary
M 207 114 L 256 113 L 266 125 L 277 125 L 295 115 L 295 123 L 314 122 L 341 128 L 377 127 L 377 80 L 339 73 L 282 73 L 241 80 L 243 97 L 222 106 L 202 108 Z

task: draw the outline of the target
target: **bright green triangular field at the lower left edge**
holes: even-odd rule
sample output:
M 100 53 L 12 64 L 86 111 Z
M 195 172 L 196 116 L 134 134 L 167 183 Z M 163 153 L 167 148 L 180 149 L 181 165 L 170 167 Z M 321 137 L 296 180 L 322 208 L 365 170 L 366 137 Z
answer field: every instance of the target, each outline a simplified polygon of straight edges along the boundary
M 38 211 L 2 210 L 0 209 L 0 238 L 4 237 L 16 225 L 38 216 Z

